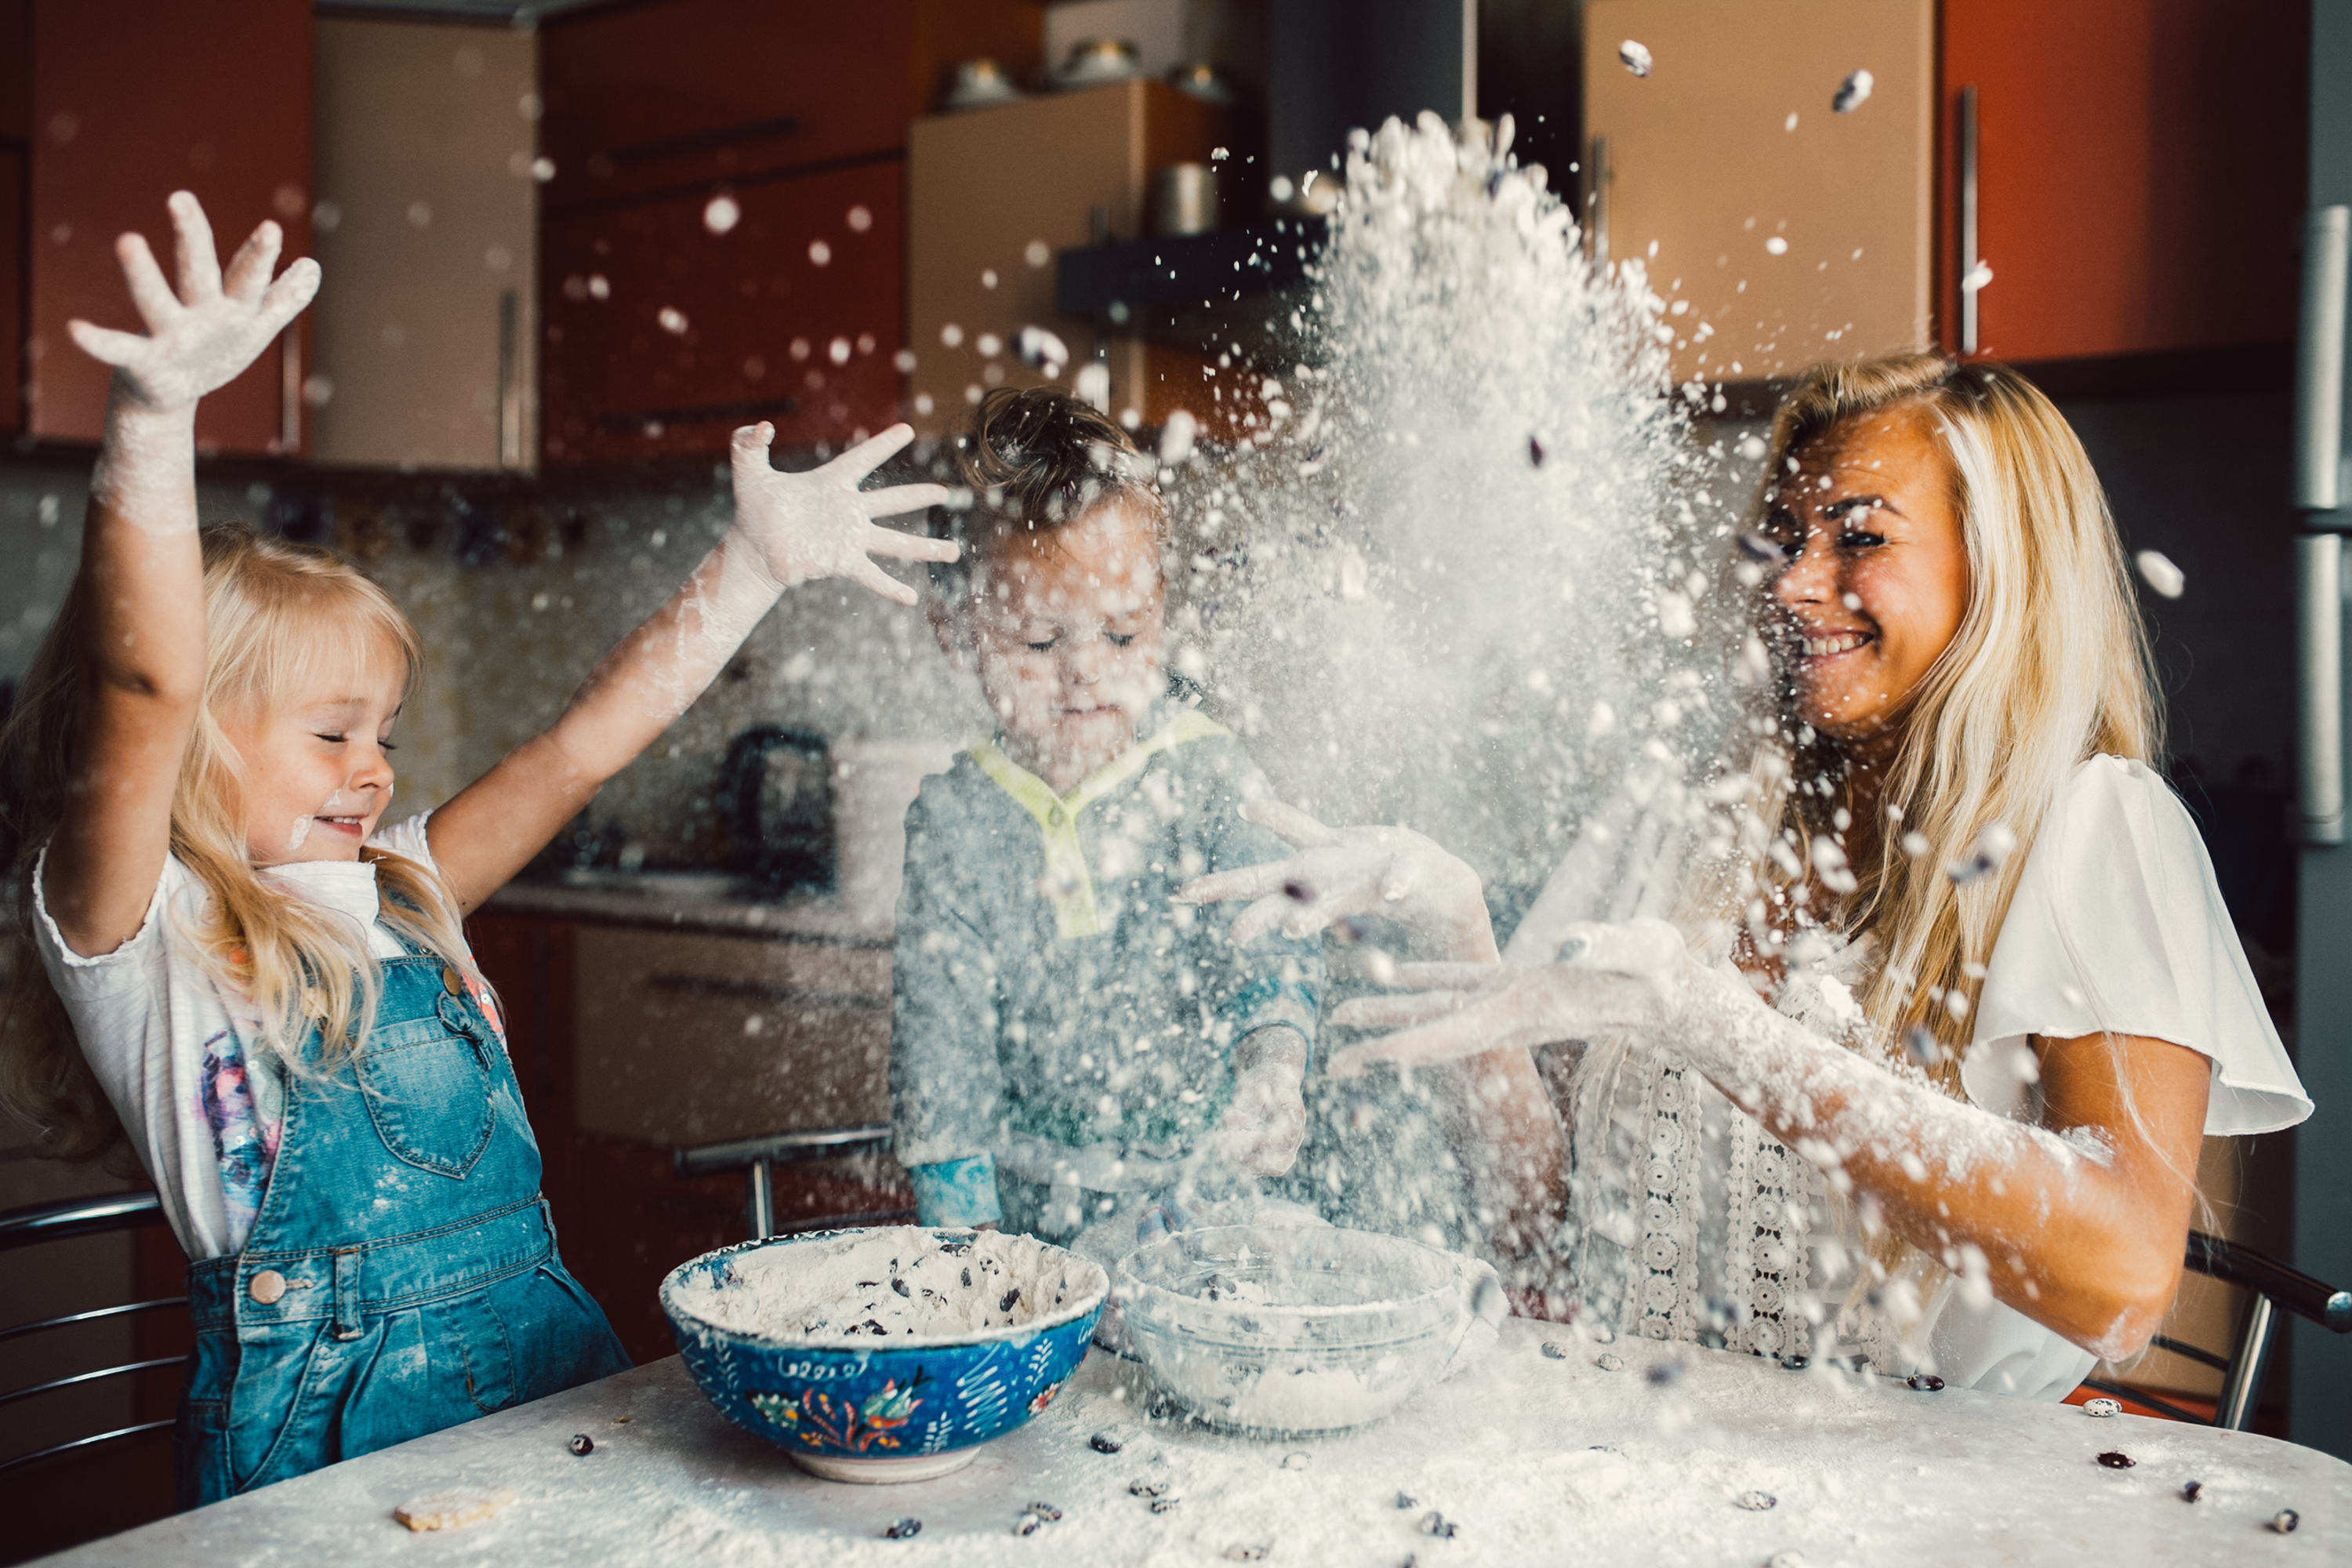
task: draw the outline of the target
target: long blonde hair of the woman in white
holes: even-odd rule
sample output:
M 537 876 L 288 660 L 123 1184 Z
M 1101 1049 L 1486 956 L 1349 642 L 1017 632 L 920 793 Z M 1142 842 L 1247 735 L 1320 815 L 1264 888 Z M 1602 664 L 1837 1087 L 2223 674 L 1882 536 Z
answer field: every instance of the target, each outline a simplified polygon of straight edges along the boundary
M 1898 404 L 1926 409 L 1952 458 L 1969 609 L 1903 717 L 1879 797 L 1903 816 L 1882 825 L 1882 853 L 1851 867 L 1837 924 L 1877 940 L 1858 997 L 1872 1034 L 1893 1048 L 1926 1025 L 1943 1046 L 1936 1079 L 1959 1093 L 1966 1013 L 2051 804 L 2093 755 L 2154 762 L 2161 722 L 2147 628 L 2098 473 L 2049 397 L 2013 369 L 1943 355 L 1813 367 L 1773 414 L 1759 510 L 1797 447 Z M 1778 757 L 1759 759 L 1773 785 L 1764 823 L 1802 867 L 1813 839 L 1835 832 L 1844 790 L 1835 748 L 1790 712 L 1785 679 L 1776 691 L 1778 736 L 1766 750 Z M 1987 830 L 2006 830 L 2016 846 L 1997 870 L 1955 884 L 1947 867 L 1976 856 Z M 1917 835 L 1910 849 L 1907 835 Z M 1802 870 L 1764 860 L 1759 872 L 1802 903 Z

